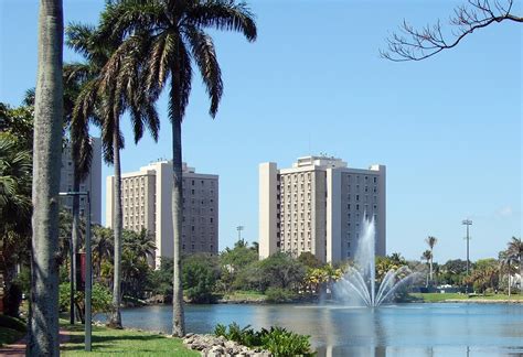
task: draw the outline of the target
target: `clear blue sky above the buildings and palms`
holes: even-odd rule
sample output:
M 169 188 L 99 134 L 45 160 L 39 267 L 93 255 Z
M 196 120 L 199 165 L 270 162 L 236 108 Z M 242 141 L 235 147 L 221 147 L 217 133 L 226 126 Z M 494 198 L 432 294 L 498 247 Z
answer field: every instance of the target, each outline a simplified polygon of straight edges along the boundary
M 13 106 L 34 87 L 36 2 L 0 3 L 0 101 Z M 388 253 L 419 259 L 433 235 L 436 261 L 465 259 L 466 217 L 473 219 L 471 259 L 497 257 L 521 237 L 521 24 L 494 24 L 420 63 L 378 57 L 404 18 L 434 23 L 462 2 L 258 0 L 250 2 L 254 44 L 213 32 L 225 95 L 213 121 L 195 76 L 183 159 L 220 174 L 221 249 L 237 225 L 257 239 L 260 162 L 285 167 L 319 152 L 354 167 L 387 165 Z M 65 19 L 95 23 L 102 8 L 100 0 L 66 0 Z M 164 98 L 158 108 L 158 144 L 146 138 L 136 147 L 125 127 L 124 172 L 171 156 Z M 104 185 L 111 170 L 104 169 Z

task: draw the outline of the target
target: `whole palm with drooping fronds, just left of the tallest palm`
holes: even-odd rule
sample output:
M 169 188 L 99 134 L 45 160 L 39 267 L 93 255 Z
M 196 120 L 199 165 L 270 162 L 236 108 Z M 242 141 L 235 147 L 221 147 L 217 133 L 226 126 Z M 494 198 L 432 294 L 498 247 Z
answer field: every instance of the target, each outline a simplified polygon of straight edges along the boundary
M 147 127 L 158 140 L 160 120 L 154 102 L 138 86 L 140 63 L 127 47 L 118 48 L 121 41 L 103 36 L 95 28 L 73 24 L 67 28 L 67 44 L 82 54 L 86 62 L 72 64 L 71 76 L 81 78 L 82 88 L 77 96 L 73 128 L 78 136 L 88 132 L 89 121 L 102 127 L 104 158 L 115 167 L 114 202 L 115 215 L 113 229 L 114 247 L 114 283 L 113 311 L 109 326 L 121 328 L 121 169 L 120 150 L 124 148 L 124 137 L 120 130 L 120 117 L 125 111 L 130 112 L 135 143 L 143 136 Z M 125 60 L 125 61 L 124 61 Z M 82 152 L 78 150 L 78 152 Z

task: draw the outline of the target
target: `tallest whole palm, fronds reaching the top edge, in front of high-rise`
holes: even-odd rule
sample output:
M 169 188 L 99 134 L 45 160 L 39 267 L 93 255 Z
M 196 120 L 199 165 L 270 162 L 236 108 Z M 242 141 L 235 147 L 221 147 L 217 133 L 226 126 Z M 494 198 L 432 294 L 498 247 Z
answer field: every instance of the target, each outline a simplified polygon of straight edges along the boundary
M 234 0 L 121 0 L 108 3 L 102 31 L 126 39 L 120 46 L 143 58 L 147 91 L 158 97 L 169 86 L 169 119 L 172 127 L 172 221 L 174 236 L 173 335 L 185 334 L 181 281 L 182 228 L 182 132 L 189 102 L 192 62 L 196 65 L 211 99 L 214 118 L 223 94 L 222 73 L 214 42 L 205 29 L 236 31 L 248 41 L 256 39 L 256 24 L 245 3 Z

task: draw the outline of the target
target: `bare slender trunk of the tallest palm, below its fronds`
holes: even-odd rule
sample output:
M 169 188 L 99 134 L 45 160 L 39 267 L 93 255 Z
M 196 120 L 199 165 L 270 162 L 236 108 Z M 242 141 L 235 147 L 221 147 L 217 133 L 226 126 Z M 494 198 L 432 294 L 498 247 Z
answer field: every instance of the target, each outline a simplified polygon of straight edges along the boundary
M 172 90 L 171 93 L 173 93 Z M 173 98 L 171 98 L 173 100 Z M 172 334 L 181 337 L 185 335 L 185 321 L 183 315 L 183 288 L 182 288 L 182 128 L 181 118 L 175 116 L 172 120 L 172 232 L 174 238 L 173 251 L 173 294 L 172 294 Z

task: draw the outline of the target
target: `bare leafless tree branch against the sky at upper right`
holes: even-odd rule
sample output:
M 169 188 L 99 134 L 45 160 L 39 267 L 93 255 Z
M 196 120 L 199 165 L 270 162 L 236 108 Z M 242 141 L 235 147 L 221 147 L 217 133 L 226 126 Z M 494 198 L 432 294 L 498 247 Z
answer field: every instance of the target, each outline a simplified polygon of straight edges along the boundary
M 491 3 L 493 1 L 493 4 Z M 380 50 L 382 58 L 394 62 L 421 61 L 435 54 L 457 46 L 461 40 L 476 30 L 487 28 L 494 22 L 512 21 L 523 23 L 523 17 L 511 13 L 514 0 L 468 0 L 467 6 L 453 9 L 449 24 L 452 39 L 444 35 L 441 22 L 414 29 L 406 20 L 399 31 L 386 39 L 387 50 Z

